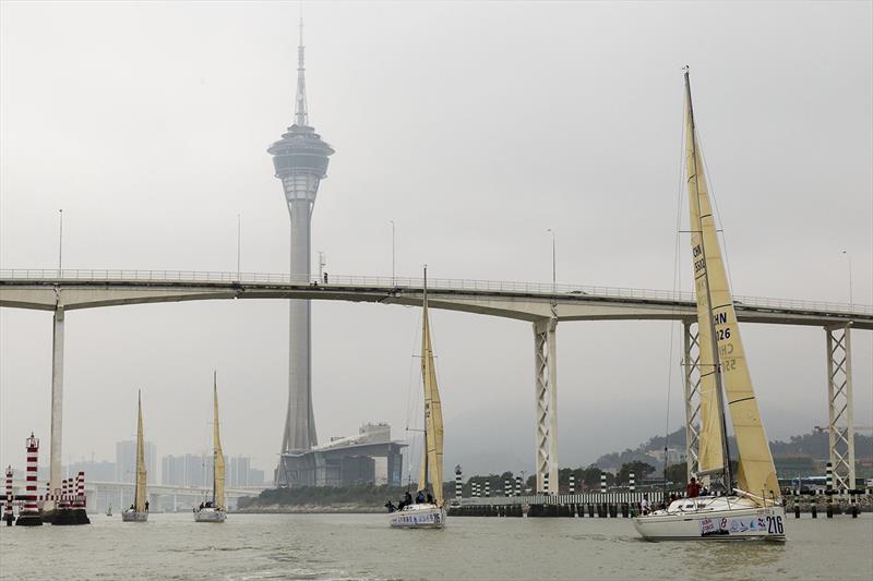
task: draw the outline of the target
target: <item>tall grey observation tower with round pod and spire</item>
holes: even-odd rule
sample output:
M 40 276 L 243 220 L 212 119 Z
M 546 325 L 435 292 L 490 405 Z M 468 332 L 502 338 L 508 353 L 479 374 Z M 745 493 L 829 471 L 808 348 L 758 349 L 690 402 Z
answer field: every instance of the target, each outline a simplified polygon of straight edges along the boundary
M 291 278 L 310 280 L 310 223 L 319 183 L 327 174 L 328 156 L 334 149 L 309 124 L 303 66 L 303 20 L 297 48 L 297 101 L 294 124 L 267 153 L 273 156 L 276 178 L 282 180 L 288 215 L 291 218 Z M 282 437 L 282 459 L 276 469 L 276 486 L 315 484 L 312 472 L 301 465 L 302 452 L 318 445 L 312 414 L 311 327 L 309 301 L 290 301 L 288 354 L 288 412 Z M 306 462 L 302 462 L 306 463 Z

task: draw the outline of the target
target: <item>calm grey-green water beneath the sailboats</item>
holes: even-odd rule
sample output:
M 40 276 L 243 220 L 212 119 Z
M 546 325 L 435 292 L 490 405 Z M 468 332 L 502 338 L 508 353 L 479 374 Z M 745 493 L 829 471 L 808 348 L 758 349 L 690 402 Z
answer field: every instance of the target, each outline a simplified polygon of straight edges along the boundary
M 394 531 L 384 515 L 152 515 L 0 530 L 0 579 L 864 579 L 873 516 L 789 521 L 785 545 L 646 543 L 629 519 L 455 518 Z

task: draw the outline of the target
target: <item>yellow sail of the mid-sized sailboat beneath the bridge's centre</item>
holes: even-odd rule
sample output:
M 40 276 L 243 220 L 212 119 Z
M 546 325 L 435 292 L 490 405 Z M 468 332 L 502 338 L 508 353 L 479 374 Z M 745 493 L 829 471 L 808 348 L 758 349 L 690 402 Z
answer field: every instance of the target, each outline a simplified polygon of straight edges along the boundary
M 421 377 L 424 384 L 424 453 L 421 455 L 419 489 L 426 491 L 428 483 L 433 489 L 436 505 L 443 504 L 443 410 L 440 390 L 436 387 L 436 370 L 433 365 L 433 347 L 430 340 L 428 318 L 428 271 L 424 270 L 424 299 L 421 310 Z

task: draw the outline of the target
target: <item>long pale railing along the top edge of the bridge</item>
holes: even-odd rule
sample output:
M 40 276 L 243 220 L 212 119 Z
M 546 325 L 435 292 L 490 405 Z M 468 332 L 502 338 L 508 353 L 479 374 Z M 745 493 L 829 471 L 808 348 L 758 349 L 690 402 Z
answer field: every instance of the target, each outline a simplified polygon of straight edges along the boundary
M 316 277 L 290 276 L 275 273 L 228 273 L 216 270 L 122 270 L 122 269 L 62 269 L 3 268 L 0 280 L 40 281 L 162 281 L 194 283 L 239 285 L 307 285 L 327 287 L 372 287 L 384 289 L 421 289 L 423 279 L 385 276 L 335 276 L 327 280 Z M 477 280 L 468 278 L 428 278 L 428 287 L 434 290 L 459 290 L 483 292 L 518 292 L 541 295 L 593 295 L 611 299 L 643 299 L 671 302 L 694 302 L 694 294 L 682 291 L 632 289 L 591 285 L 552 285 L 548 282 L 515 282 L 503 280 Z M 873 315 L 873 306 L 821 301 L 797 301 L 762 296 L 734 295 L 739 304 L 758 308 L 788 308 L 794 311 L 832 312 Z

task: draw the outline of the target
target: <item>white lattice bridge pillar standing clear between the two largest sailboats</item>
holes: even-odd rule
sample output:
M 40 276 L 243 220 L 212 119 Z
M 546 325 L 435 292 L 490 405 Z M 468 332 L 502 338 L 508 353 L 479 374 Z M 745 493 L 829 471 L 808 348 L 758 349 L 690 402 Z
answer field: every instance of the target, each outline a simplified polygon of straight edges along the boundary
M 534 361 L 536 366 L 536 492 L 557 492 L 558 484 L 558 318 L 534 323 Z M 546 477 L 548 474 L 548 479 Z M 546 483 L 555 489 L 546 489 Z

